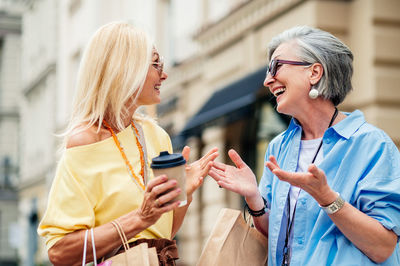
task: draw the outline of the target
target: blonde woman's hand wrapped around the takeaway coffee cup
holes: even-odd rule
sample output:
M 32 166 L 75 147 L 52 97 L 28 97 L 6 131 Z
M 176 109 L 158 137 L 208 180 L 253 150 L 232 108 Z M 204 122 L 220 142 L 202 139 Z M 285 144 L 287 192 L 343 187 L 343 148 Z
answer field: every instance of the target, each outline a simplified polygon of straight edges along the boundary
M 179 201 L 173 201 L 180 193 L 175 179 L 168 180 L 166 175 L 160 175 L 147 184 L 142 206 L 137 214 L 147 227 L 153 225 L 163 213 L 179 206 Z

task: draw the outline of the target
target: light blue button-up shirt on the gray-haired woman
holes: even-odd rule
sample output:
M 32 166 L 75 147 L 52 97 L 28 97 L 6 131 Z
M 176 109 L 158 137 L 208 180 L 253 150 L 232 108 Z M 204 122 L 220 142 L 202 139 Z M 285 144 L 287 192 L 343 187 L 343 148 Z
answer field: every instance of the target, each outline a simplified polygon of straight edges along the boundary
M 318 167 L 325 172 L 329 186 L 343 199 L 399 236 L 399 150 L 382 130 L 365 122 L 361 111 L 347 115 L 325 132 L 324 159 Z M 288 129 L 271 141 L 265 159 L 274 155 L 282 169 L 295 172 L 301 133 L 300 125 L 292 119 Z M 281 224 L 285 226 L 289 187 L 289 183 L 280 181 L 268 168 L 264 169 L 259 190 L 270 208 L 269 265 L 282 263 L 285 236 L 280 232 Z M 376 265 L 339 231 L 305 191 L 299 195 L 292 230 L 291 265 Z M 400 265 L 399 242 L 391 257 L 381 265 Z

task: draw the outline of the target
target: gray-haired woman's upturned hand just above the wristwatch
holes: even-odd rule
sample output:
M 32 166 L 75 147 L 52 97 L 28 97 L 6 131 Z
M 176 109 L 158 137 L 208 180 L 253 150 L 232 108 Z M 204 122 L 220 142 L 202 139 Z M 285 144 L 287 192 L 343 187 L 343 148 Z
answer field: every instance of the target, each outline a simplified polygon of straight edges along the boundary
M 324 171 L 319 169 L 315 164 L 308 167 L 308 172 L 294 173 L 280 169 L 278 162 L 274 156 L 269 157 L 269 161 L 265 165 L 280 180 L 286 181 L 293 186 L 299 187 L 310 194 L 321 206 L 326 206 L 334 202 L 337 198 L 328 185 Z

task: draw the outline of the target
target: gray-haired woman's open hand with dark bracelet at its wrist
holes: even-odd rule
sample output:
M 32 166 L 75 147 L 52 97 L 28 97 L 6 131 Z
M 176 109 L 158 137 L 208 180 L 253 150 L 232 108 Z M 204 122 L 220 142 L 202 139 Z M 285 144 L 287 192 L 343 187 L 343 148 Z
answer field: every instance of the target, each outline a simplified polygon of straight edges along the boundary
M 209 175 L 218 185 L 236 192 L 246 198 L 258 196 L 257 181 L 250 167 L 243 162 L 235 150 L 229 150 L 229 157 L 236 167 L 224 163 L 213 162 Z

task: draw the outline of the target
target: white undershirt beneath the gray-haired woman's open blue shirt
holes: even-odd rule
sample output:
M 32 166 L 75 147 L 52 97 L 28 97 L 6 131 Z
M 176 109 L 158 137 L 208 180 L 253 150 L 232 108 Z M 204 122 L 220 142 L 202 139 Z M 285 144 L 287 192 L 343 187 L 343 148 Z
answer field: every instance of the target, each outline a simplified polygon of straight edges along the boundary
M 297 163 L 296 172 L 307 172 L 312 159 L 314 159 L 315 153 L 317 152 L 318 146 L 321 143 L 322 138 L 302 140 L 300 142 L 299 161 Z M 314 164 L 318 165 L 324 159 L 322 147 L 318 152 L 317 158 Z M 299 187 L 290 186 L 289 197 L 290 197 L 290 220 L 293 219 L 294 205 L 296 204 L 299 196 Z

